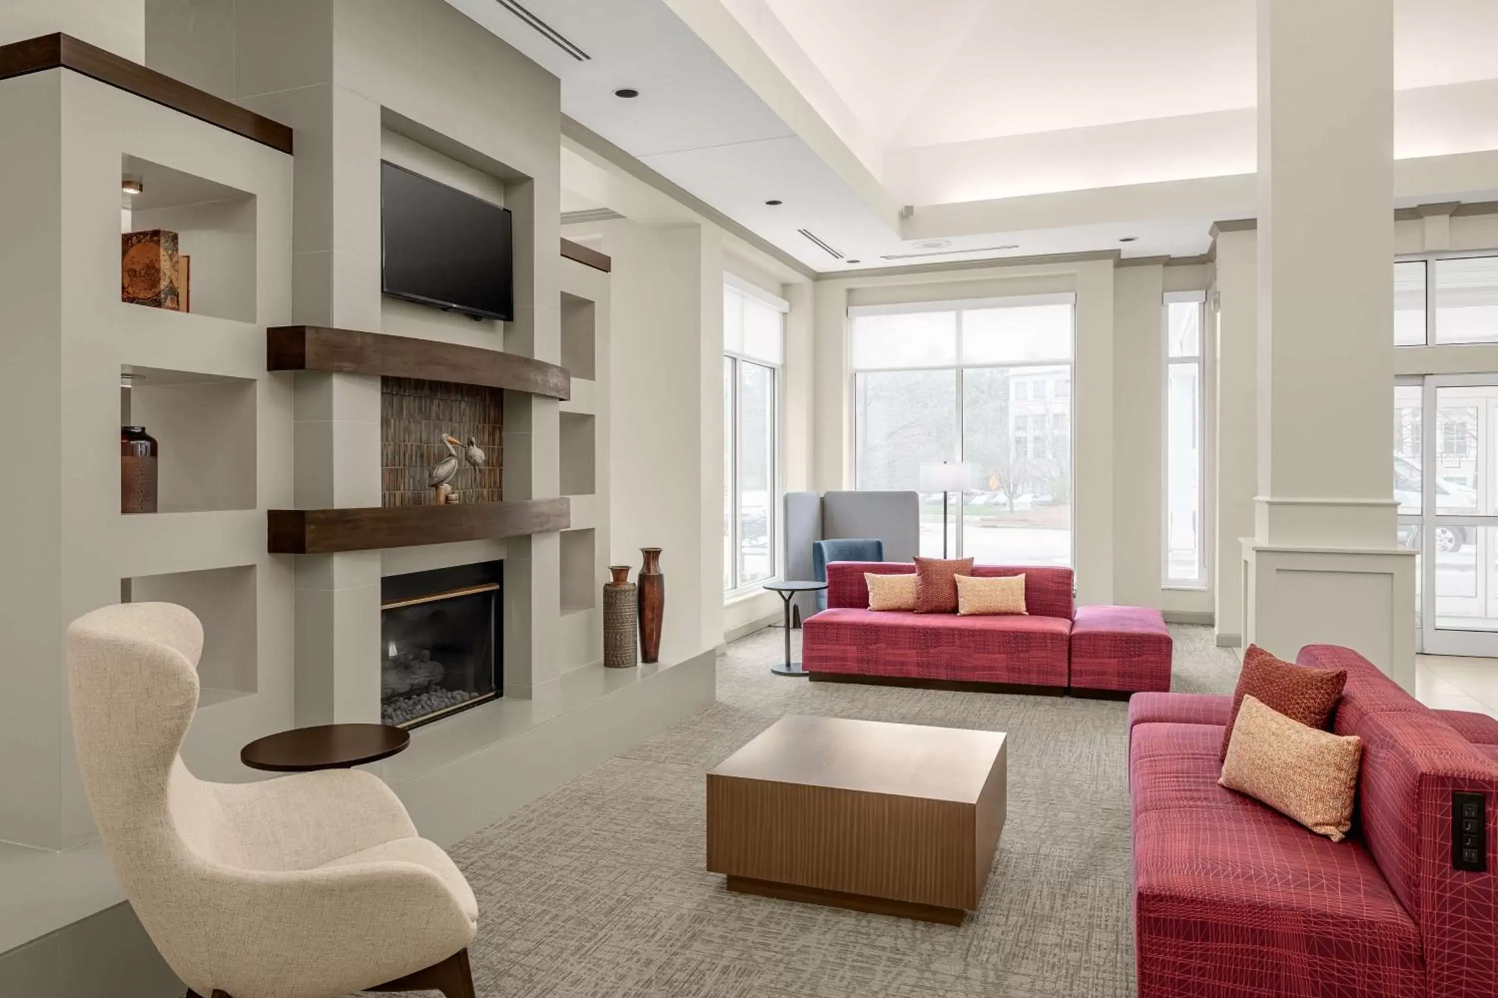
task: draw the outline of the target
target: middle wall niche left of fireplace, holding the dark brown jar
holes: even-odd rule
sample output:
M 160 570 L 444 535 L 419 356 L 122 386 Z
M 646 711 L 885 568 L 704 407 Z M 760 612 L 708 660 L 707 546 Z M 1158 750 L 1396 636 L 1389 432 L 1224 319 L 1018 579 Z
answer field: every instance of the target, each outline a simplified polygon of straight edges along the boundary
M 156 441 L 154 512 L 255 509 L 255 388 L 249 379 L 120 368 L 120 426 Z M 121 485 L 124 476 L 121 465 Z

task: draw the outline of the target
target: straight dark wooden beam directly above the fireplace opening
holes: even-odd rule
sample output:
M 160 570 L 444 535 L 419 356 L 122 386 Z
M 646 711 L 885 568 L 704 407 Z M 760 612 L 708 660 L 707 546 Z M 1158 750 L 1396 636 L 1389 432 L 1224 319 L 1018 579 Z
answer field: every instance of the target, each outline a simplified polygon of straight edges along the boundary
M 367 506 L 358 509 L 273 509 L 267 512 L 273 555 L 328 555 L 455 540 L 520 537 L 566 530 L 566 497 L 463 506 Z

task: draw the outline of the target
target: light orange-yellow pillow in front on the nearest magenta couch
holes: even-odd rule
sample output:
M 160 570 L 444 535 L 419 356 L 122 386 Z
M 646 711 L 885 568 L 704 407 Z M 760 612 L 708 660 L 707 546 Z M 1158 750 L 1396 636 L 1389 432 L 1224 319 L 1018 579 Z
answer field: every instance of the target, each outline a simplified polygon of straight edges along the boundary
M 1218 783 L 1341 842 L 1353 827 L 1362 757 L 1357 735 L 1318 732 L 1245 696 Z

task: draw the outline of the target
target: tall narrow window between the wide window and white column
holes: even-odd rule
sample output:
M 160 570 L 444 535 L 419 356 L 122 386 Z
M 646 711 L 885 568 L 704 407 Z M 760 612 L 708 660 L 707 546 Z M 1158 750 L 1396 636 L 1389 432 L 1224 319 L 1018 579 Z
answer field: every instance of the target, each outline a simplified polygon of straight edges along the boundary
M 1206 428 L 1200 292 L 1165 299 L 1165 588 L 1206 588 Z

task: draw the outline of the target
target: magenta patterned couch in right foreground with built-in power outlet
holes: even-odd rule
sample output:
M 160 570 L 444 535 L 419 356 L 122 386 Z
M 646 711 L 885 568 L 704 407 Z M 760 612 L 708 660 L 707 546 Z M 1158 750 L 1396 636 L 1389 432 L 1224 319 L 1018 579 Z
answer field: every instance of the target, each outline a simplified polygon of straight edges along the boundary
M 1353 832 L 1218 786 L 1231 697 L 1129 700 L 1140 998 L 1498 995 L 1498 721 L 1431 711 L 1362 655 L 1333 720 L 1363 739 Z M 1486 795 L 1488 872 L 1452 866 L 1452 793 Z

